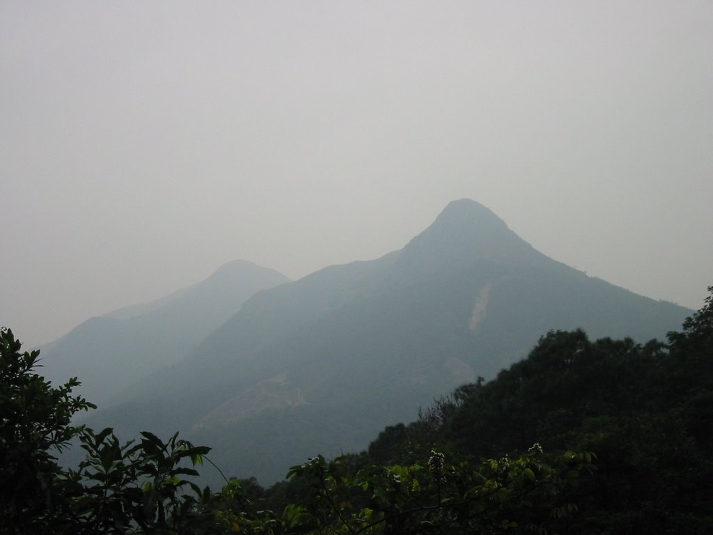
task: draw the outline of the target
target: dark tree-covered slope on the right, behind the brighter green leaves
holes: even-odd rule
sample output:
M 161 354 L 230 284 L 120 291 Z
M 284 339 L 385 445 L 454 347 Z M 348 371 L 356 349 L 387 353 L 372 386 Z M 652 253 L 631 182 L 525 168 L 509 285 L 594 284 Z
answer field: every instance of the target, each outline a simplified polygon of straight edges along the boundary
M 378 462 L 429 448 L 497 457 L 545 450 L 597 454 L 573 496 L 573 533 L 699 534 L 713 529 L 713 287 L 704 307 L 645 345 L 581 330 L 549 332 L 492 382 L 439 399 L 369 447 Z

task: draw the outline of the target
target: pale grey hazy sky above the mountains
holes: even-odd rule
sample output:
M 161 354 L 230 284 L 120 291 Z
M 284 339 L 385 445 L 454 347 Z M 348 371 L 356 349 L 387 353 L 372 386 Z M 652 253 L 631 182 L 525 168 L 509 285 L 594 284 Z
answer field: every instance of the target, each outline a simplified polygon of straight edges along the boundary
M 26 347 L 242 258 L 377 258 L 448 201 L 699 307 L 713 2 L 0 0 L 0 325 Z

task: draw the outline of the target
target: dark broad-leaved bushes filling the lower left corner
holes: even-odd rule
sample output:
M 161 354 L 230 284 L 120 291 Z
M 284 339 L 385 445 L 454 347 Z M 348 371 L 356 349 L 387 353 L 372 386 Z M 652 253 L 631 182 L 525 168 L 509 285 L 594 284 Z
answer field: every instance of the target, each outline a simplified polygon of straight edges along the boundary
M 186 463 L 200 462 L 209 448 L 148 432 L 120 445 L 111 429 L 73 425 L 75 414 L 96 408 L 71 394 L 78 380 L 53 387 L 36 373 L 39 351 L 20 350 L 12 331 L 1 329 L 0 533 L 220 532 L 210 491 L 185 479 L 198 475 Z M 56 455 L 72 439 L 86 459 L 62 469 Z

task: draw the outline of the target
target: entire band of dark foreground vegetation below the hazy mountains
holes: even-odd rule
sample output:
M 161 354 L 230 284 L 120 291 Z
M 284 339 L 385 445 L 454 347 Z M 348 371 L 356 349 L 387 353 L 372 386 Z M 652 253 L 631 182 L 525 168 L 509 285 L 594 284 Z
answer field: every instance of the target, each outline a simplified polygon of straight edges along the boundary
M 71 424 L 93 406 L 52 387 L 0 331 L 0 533 L 694 534 L 713 527 L 713 287 L 668 343 L 549 332 L 367 452 L 200 488 L 207 447 L 121 443 Z M 75 469 L 54 457 L 70 440 Z M 588 453 L 595 452 L 595 454 Z M 275 512 L 272 512 L 275 511 Z

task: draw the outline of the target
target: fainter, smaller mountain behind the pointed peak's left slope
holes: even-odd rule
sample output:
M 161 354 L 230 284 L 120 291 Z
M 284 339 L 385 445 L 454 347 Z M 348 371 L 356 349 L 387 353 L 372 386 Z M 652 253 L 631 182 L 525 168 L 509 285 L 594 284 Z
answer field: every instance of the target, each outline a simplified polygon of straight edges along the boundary
M 105 407 L 128 385 L 190 355 L 256 292 L 288 281 L 250 262 L 227 263 L 167 297 L 78 325 L 41 349 L 43 374 L 53 383 L 78 376 L 78 392 Z

